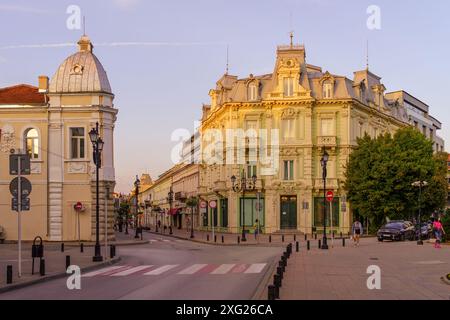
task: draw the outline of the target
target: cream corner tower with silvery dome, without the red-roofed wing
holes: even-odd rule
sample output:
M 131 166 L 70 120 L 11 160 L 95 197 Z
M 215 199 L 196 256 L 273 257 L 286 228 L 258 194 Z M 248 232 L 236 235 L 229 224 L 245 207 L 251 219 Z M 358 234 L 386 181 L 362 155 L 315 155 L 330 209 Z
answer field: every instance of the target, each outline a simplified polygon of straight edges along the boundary
M 100 235 L 104 239 L 107 227 L 108 238 L 114 238 L 114 124 L 118 110 L 113 104 L 114 94 L 106 71 L 93 48 L 89 37 L 83 35 L 78 41 L 78 52 L 63 61 L 47 90 L 51 241 L 95 239 L 96 167 L 89 131 L 97 123 L 104 141 L 100 170 Z M 83 212 L 74 209 L 74 204 L 79 202 L 85 208 Z

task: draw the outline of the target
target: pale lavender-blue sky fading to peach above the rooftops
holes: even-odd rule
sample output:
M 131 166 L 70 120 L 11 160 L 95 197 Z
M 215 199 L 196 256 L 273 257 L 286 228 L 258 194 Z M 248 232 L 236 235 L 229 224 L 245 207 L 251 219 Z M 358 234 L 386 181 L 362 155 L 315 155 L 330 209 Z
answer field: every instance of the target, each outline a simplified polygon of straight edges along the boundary
M 208 92 L 224 74 L 273 71 L 276 46 L 305 44 L 307 62 L 353 78 L 366 66 L 387 91 L 430 105 L 450 144 L 450 2 L 435 0 L 1 0 L 0 87 L 37 85 L 76 51 L 86 33 L 108 73 L 119 109 L 117 191 L 136 174 L 169 169 L 175 129 L 194 130 Z M 375 13 L 373 6 L 379 9 Z M 368 12 L 369 9 L 369 12 Z M 380 19 L 377 19 L 377 18 Z M 375 20 L 373 20 L 375 19 Z M 72 22 L 69 23 L 68 20 Z M 369 25 L 368 25 L 369 20 Z M 74 28 L 75 27 L 75 28 Z

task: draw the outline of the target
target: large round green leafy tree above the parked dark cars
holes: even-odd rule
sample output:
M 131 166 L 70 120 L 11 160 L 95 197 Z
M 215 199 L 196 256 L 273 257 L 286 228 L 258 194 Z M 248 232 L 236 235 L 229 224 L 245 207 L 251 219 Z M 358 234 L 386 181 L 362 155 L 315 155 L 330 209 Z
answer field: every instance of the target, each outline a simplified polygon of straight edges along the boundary
M 415 181 L 427 181 L 421 208 L 424 215 L 445 205 L 444 155 L 433 155 L 433 143 L 408 127 L 394 136 L 365 135 L 350 155 L 344 188 L 354 212 L 368 218 L 371 231 L 388 219 L 411 219 L 419 210 Z

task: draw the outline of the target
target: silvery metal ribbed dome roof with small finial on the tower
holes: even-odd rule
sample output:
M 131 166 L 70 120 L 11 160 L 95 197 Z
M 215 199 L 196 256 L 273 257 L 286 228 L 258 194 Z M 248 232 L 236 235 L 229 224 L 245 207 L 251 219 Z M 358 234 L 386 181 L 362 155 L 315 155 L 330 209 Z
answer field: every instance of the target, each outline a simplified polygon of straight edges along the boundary
M 92 53 L 94 46 L 87 36 L 78 42 L 79 51 L 59 66 L 50 81 L 50 93 L 110 93 L 105 69 Z

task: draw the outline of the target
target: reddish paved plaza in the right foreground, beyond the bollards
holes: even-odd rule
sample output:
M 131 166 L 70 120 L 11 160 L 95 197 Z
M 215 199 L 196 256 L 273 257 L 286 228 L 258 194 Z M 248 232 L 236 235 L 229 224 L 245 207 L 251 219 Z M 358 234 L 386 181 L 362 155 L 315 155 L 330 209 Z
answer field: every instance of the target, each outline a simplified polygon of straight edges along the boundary
M 381 268 L 381 290 L 369 290 L 367 268 Z M 429 243 L 378 243 L 335 246 L 329 251 L 294 252 L 280 290 L 284 300 L 448 300 L 450 286 L 440 278 L 450 272 L 450 247 Z

